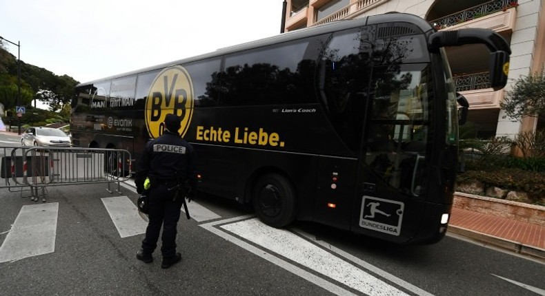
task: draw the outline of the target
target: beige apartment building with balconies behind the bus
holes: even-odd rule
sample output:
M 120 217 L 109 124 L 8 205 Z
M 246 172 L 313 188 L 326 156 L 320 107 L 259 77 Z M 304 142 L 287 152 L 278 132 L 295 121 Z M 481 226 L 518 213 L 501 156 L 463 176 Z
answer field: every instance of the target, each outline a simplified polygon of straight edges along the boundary
M 521 76 L 545 65 L 545 0 L 287 0 L 285 30 L 355 19 L 373 14 L 404 12 L 426 19 L 437 30 L 488 28 L 511 44 L 507 86 L 495 92 L 488 81 L 488 52 L 484 45 L 448 47 L 458 92 L 470 103 L 468 120 L 479 138 L 545 128 L 545 122 L 504 118 L 500 108 L 506 92 Z

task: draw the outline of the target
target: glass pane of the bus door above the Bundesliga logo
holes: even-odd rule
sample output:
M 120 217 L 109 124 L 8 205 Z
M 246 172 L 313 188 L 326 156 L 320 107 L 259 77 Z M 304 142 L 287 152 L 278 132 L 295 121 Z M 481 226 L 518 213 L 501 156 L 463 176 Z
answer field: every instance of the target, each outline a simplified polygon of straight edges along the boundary
M 430 64 L 402 65 L 399 71 L 375 69 L 365 162 L 381 180 L 409 195 L 419 195 L 420 176 L 430 133 Z M 387 78 L 385 78 L 387 77 Z M 421 159 L 420 159 L 421 158 Z

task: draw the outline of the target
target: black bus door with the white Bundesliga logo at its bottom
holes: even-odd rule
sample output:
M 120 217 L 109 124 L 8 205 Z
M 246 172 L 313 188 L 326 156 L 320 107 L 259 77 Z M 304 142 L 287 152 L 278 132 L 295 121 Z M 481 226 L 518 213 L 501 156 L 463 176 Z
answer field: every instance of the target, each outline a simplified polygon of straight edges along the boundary
M 351 230 L 394 242 L 414 235 L 430 151 L 429 63 L 373 67 Z

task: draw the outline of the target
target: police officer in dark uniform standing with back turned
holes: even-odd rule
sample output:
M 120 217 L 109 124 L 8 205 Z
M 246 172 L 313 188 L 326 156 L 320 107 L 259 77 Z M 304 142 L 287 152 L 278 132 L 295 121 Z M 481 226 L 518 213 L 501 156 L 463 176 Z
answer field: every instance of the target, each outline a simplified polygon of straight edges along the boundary
M 137 259 L 146 263 L 153 261 L 152 253 L 157 247 L 162 224 L 161 268 L 169 268 L 181 260 L 181 254 L 176 252 L 180 209 L 186 194 L 188 201 L 195 198 L 197 186 L 195 152 L 178 134 L 180 125 L 178 116 L 166 116 L 165 133 L 146 143 L 135 176 L 138 193 L 143 192 L 146 177 L 150 179 L 149 222 Z M 189 189 L 184 186 L 186 182 Z

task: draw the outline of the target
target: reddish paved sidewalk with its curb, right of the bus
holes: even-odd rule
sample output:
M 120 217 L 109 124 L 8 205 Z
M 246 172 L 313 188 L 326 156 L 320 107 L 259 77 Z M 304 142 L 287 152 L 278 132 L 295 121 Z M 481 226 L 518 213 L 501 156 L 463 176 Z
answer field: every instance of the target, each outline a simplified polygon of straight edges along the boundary
M 545 226 L 453 207 L 448 232 L 545 261 Z

